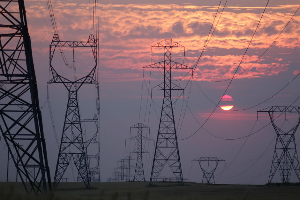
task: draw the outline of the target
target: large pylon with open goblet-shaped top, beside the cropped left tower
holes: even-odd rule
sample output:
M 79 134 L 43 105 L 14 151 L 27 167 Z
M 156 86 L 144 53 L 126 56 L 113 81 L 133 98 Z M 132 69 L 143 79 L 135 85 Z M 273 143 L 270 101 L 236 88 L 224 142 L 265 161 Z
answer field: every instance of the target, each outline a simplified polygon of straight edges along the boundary
M 57 47 L 90 47 L 94 57 L 94 67 L 91 72 L 78 80 L 71 81 L 60 76 L 52 66 L 52 59 Z M 89 168 L 87 152 L 83 141 L 82 127 L 80 122 L 80 113 L 78 108 L 78 90 L 83 84 L 98 84 L 95 80 L 95 71 L 97 68 L 97 44 L 93 35 L 90 35 L 87 42 L 60 41 L 58 34 L 54 34 L 50 44 L 50 83 L 63 83 L 68 90 L 68 104 L 63 124 L 63 134 L 58 153 L 58 160 L 55 170 L 53 186 L 57 187 L 63 177 L 71 158 L 73 158 L 76 168 L 82 181 L 87 188 L 90 187 Z

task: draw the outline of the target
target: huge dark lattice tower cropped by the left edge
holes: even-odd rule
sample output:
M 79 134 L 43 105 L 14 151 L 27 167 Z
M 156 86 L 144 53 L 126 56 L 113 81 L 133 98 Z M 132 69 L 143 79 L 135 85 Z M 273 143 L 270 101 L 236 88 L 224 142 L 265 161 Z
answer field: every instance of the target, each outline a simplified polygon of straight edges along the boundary
M 1 133 L 26 191 L 47 192 L 51 180 L 24 1 L 0 1 L 0 8 Z

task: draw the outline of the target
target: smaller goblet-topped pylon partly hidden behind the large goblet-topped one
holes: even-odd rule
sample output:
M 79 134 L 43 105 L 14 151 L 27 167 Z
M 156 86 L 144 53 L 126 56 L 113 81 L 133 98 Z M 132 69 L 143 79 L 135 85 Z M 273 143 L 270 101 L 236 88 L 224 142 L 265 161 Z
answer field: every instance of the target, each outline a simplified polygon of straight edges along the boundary
M 76 121 L 76 116 L 73 115 L 72 118 L 73 122 Z M 88 173 L 89 173 L 89 179 L 90 182 L 100 182 L 100 143 L 97 141 L 97 135 L 98 135 L 98 117 L 97 115 L 94 115 L 93 119 L 80 119 L 81 123 L 84 123 L 84 132 L 83 135 L 87 135 L 86 133 L 86 123 L 95 123 L 96 126 L 96 132 L 93 134 L 93 137 L 91 139 L 85 140 L 84 145 L 86 148 L 86 152 L 88 152 L 88 146 L 91 143 L 98 144 L 98 153 L 96 155 L 88 155 Z M 83 182 L 83 179 L 81 178 L 79 172 L 77 176 L 77 182 Z

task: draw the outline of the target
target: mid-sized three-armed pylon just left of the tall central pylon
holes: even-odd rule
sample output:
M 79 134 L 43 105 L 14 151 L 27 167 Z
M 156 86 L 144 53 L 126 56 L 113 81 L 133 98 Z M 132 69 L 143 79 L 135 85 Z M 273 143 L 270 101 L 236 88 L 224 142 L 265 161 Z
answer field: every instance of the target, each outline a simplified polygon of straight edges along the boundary
M 153 141 L 153 139 L 147 138 L 142 135 L 143 129 L 148 129 L 150 131 L 150 128 L 142 123 L 137 123 L 136 125 L 130 127 L 130 133 L 132 128 L 138 129 L 138 135 L 134 136 L 132 138 L 128 138 L 126 140 L 135 140 L 138 142 L 138 148 L 134 149 L 131 153 L 137 153 L 137 163 L 135 165 L 135 172 L 134 172 L 134 178 L 133 181 L 145 181 L 145 175 L 144 175 L 144 167 L 143 167 L 143 153 L 149 153 L 145 149 L 142 148 L 142 142 L 143 141 Z M 126 141 L 125 140 L 125 141 Z

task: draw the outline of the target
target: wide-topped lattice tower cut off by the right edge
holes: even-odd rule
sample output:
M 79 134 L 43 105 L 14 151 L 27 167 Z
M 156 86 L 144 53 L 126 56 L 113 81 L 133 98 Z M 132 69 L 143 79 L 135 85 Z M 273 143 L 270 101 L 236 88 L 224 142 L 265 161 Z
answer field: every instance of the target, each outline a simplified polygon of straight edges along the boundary
M 288 183 L 291 177 L 291 171 L 294 169 L 298 180 L 300 181 L 300 167 L 295 143 L 295 132 L 300 123 L 300 107 L 279 107 L 272 106 L 262 109 L 258 112 L 267 112 L 271 123 L 277 134 L 275 150 L 272 159 L 271 171 L 268 183 L 271 183 L 277 168 L 279 167 L 281 182 Z M 285 132 L 275 125 L 274 113 L 297 113 L 297 123 L 289 131 Z

